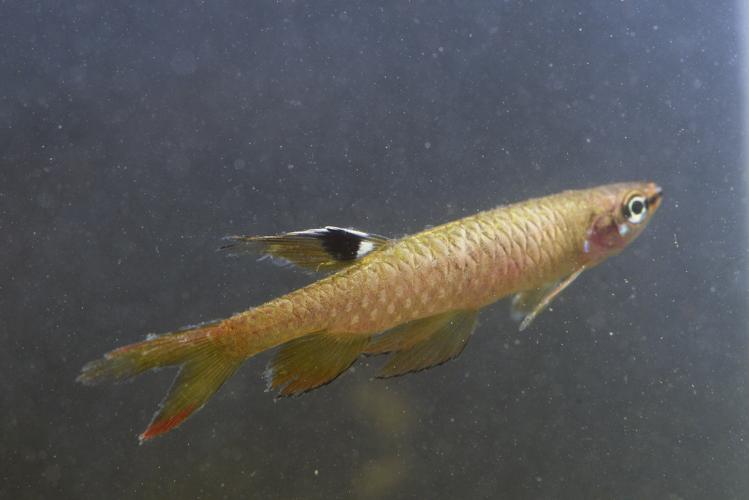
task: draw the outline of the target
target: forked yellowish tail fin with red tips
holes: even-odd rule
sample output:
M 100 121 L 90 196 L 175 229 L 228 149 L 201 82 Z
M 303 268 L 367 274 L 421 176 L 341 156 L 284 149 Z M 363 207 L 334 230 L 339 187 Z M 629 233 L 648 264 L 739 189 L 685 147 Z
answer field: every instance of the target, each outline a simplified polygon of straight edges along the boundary
M 203 407 L 236 371 L 243 359 L 227 353 L 211 336 L 215 324 L 169 333 L 120 347 L 83 367 L 78 381 L 84 384 L 116 382 L 144 371 L 181 365 L 169 393 L 141 443 L 174 429 Z

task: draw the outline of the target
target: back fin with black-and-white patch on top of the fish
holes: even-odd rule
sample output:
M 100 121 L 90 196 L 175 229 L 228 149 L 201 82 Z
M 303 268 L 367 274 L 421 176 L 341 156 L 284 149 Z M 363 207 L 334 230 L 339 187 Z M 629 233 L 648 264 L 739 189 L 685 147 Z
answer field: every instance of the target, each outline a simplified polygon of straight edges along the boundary
M 233 254 L 258 252 L 313 271 L 337 271 L 382 248 L 389 240 L 354 229 L 326 226 L 277 236 L 229 236 Z

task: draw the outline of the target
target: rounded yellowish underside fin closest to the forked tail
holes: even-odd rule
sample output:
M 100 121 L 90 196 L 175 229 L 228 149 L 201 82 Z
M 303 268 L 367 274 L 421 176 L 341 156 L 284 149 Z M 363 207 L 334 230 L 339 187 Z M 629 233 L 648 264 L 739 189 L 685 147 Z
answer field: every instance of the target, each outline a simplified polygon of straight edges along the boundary
M 332 382 L 356 361 L 368 340 L 361 335 L 316 333 L 287 342 L 266 371 L 268 390 L 296 396 Z

